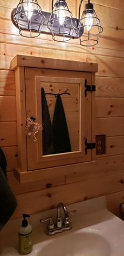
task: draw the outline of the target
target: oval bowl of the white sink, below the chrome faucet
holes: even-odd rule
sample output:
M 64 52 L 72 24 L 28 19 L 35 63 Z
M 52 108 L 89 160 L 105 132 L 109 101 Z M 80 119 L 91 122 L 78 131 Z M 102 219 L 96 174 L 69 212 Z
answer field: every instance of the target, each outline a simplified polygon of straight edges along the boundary
M 99 234 L 82 232 L 57 237 L 42 246 L 37 256 L 110 256 L 109 243 Z

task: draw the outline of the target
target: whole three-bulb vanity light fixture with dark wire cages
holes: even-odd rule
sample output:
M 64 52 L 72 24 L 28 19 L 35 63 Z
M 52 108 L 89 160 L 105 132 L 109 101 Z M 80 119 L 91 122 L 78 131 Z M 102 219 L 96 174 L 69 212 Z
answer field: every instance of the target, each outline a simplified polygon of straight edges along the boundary
M 78 19 L 69 11 L 66 0 L 57 0 L 55 4 L 51 0 L 51 13 L 42 11 L 37 0 L 20 0 L 11 17 L 20 35 L 36 37 L 40 33 L 48 33 L 58 42 L 79 38 L 80 45 L 92 46 L 98 43 L 103 29 L 89 0 L 80 18 L 82 2 Z

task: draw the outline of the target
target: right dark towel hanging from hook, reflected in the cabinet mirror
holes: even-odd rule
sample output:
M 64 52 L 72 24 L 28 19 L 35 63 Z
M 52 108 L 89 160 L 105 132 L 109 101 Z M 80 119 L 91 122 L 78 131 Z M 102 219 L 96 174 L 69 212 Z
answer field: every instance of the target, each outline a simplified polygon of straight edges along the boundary
M 57 95 L 53 118 L 54 153 L 71 152 L 65 111 L 60 94 Z

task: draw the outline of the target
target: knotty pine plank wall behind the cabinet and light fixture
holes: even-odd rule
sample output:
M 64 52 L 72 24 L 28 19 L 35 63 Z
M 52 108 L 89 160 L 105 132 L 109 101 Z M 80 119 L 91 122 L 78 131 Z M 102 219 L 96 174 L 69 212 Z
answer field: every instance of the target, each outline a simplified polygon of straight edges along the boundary
M 59 43 L 43 34 L 37 39 L 23 38 L 11 22 L 17 0 L 0 0 L 0 147 L 8 163 L 8 178 L 18 200 L 13 218 L 92 197 L 106 195 L 108 208 L 119 215 L 124 202 L 124 1 L 94 0 L 104 32 L 99 44 L 84 48 L 78 40 Z M 50 11 L 51 1 L 38 1 Z M 67 1 L 74 16 L 79 0 Z M 84 3 L 86 3 L 84 1 Z M 96 74 L 96 134 L 107 135 L 107 152 L 98 158 L 97 168 L 82 175 L 20 185 L 13 176 L 17 165 L 15 77 L 11 60 L 16 54 L 98 63 Z

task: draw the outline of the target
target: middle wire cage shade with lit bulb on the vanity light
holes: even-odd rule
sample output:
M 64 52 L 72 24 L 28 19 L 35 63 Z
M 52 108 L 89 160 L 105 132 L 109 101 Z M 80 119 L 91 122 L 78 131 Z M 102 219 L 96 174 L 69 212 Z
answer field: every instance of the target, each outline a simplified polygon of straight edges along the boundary
M 65 0 L 55 3 L 47 26 L 54 41 L 66 42 L 72 38 L 76 22 L 73 20 L 73 14 L 69 11 Z

